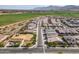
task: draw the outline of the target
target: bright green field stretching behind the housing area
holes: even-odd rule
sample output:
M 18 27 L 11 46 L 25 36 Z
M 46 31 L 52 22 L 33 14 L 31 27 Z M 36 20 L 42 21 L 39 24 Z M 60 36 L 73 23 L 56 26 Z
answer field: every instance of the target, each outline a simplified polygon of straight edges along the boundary
M 43 16 L 43 15 L 55 15 L 55 16 L 70 16 L 79 17 L 79 12 L 47 12 L 47 13 L 24 13 L 24 14 L 6 14 L 0 15 L 0 25 L 6 25 L 22 20 L 29 20 L 33 17 Z

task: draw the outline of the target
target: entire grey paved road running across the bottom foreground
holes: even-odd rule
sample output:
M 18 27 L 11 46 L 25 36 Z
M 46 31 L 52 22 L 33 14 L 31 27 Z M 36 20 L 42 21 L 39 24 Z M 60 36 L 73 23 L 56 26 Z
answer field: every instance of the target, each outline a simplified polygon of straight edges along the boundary
M 45 53 L 79 53 L 79 49 L 45 49 Z M 44 53 L 41 47 L 32 49 L 0 49 L 0 53 Z

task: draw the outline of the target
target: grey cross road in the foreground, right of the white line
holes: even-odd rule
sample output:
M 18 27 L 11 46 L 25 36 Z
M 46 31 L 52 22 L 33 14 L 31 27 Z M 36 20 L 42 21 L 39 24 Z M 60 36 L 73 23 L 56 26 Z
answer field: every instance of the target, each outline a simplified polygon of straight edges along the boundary
M 57 48 L 49 48 L 45 50 L 46 53 L 79 53 L 79 49 L 57 49 Z

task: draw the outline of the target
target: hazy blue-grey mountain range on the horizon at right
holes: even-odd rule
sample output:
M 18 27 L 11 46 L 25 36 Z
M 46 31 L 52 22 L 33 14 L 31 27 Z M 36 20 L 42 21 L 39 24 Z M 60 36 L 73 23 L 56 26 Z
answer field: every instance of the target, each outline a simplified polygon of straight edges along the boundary
M 79 11 L 79 6 L 75 6 L 75 5 L 67 5 L 67 6 L 48 6 L 48 7 L 37 7 L 34 8 L 34 10 L 45 10 L 45 11 L 49 11 L 49 10 L 55 10 L 55 11 Z

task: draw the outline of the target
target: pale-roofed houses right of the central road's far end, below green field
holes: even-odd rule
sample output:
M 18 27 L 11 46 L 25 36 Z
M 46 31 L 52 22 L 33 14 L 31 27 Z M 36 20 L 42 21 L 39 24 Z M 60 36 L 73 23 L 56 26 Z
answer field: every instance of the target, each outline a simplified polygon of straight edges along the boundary
M 42 21 L 43 26 L 51 26 L 51 27 L 62 27 L 61 21 L 59 18 L 54 17 L 44 17 L 45 20 Z

